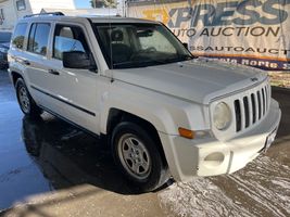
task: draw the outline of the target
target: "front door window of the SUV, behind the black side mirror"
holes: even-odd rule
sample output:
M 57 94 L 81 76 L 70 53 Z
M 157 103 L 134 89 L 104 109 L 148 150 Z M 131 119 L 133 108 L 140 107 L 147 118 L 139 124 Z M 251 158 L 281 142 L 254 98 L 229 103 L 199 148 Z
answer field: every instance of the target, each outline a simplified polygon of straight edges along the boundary
M 53 39 L 53 58 L 62 60 L 63 52 L 81 51 L 89 53 L 83 29 L 78 26 L 56 25 Z

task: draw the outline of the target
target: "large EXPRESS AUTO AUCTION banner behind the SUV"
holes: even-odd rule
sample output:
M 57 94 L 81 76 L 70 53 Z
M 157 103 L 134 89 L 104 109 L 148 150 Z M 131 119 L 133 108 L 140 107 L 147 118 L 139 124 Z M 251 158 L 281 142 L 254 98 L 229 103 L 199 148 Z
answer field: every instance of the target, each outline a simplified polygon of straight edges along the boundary
M 290 0 L 134 0 L 128 16 L 163 22 L 196 55 L 290 69 Z

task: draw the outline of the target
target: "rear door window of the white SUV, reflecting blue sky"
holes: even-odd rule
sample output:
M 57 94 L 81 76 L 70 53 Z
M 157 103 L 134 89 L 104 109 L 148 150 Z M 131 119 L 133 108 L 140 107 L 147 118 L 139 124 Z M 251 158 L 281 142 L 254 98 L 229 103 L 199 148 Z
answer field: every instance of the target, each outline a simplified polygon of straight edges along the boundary
M 50 24 L 35 23 L 31 25 L 27 50 L 40 55 L 47 54 Z

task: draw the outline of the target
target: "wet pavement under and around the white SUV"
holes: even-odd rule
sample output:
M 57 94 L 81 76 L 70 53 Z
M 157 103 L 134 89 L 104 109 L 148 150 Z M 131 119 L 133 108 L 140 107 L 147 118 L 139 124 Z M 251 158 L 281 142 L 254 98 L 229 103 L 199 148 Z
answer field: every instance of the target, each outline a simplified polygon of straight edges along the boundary
M 282 118 L 266 154 L 234 175 L 138 194 L 105 141 L 49 114 L 24 117 L 0 71 L 0 216 L 290 216 L 290 91 L 273 97 Z

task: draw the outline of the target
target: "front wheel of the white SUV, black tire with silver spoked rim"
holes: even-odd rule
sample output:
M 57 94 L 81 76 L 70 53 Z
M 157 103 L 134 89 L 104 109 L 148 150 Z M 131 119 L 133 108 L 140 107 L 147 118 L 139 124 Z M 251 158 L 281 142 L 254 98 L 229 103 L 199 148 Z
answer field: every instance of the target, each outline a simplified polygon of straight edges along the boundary
M 135 149 L 138 148 L 136 152 L 139 150 L 139 154 L 142 153 L 141 154 L 142 159 L 140 158 L 133 159 L 133 157 L 128 157 L 127 159 L 125 159 L 126 156 L 124 155 L 128 155 L 128 153 L 131 153 L 130 151 L 126 150 L 126 149 L 129 150 L 129 148 L 125 141 L 129 140 L 131 141 L 131 146 L 135 146 Z M 114 128 L 112 133 L 111 148 L 117 167 L 125 176 L 125 178 L 128 180 L 128 182 L 138 188 L 138 191 L 140 192 L 154 191 L 160 187 L 162 187 L 169 179 L 168 166 L 162 159 L 162 155 L 159 152 L 156 141 L 154 141 L 149 136 L 149 133 L 143 128 L 139 127 L 137 124 L 129 122 L 124 122 L 118 124 Z M 123 149 L 125 151 L 122 151 Z M 124 152 L 125 153 L 127 152 L 127 154 L 124 154 Z M 136 152 L 134 153 L 136 154 Z M 144 157 L 147 155 L 148 157 Z M 135 157 L 138 156 L 135 155 Z M 133 167 L 130 165 L 134 165 L 133 161 L 137 162 L 136 164 L 143 163 L 144 165 L 147 165 L 147 162 L 149 162 L 148 163 L 148 165 L 150 165 L 149 169 L 146 168 L 147 166 L 144 166 L 143 169 L 141 169 L 142 166 L 139 165 L 137 169 L 138 171 L 136 171 L 139 173 L 139 175 L 137 175 L 130 168 Z M 138 161 L 141 163 L 139 163 Z M 141 173 L 143 174 L 140 175 Z

